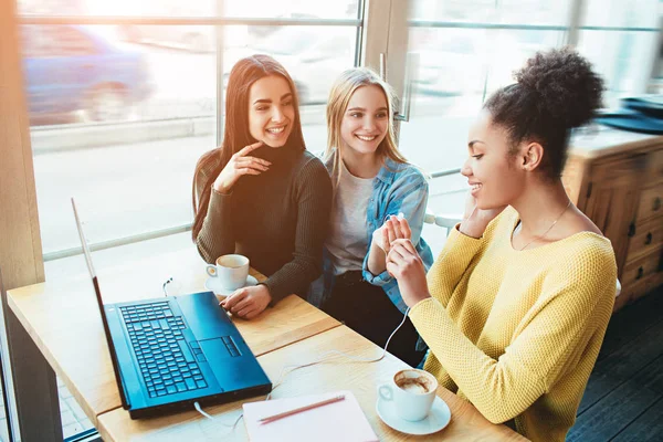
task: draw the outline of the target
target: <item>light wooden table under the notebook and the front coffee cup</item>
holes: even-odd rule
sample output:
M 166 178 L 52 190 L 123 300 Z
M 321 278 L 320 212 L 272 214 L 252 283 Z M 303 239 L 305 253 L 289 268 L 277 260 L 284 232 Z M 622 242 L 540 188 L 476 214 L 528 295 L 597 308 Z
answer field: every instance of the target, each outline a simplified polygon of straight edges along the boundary
M 346 326 L 336 327 L 276 351 L 259 357 L 272 382 L 274 399 L 304 394 L 351 390 L 359 401 L 370 425 L 381 441 L 406 441 L 413 438 L 392 430 L 376 412 L 377 386 L 387 382 L 396 371 L 408 365 L 387 354 L 378 362 L 355 361 L 341 355 L 324 355 L 339 350 L 360 358 L 372 359 L 381 355 L 381 349 Z M 285 366 L 308 364 L 324 357 L 325 364 L 301 368 L 285 376 L 277 385 Z M 525 440 L 505 425 L 488 422 L 472 404 L 460 399 L 443 387 L 438 390 L 451 410 L 451 423 L 435 434 L 427 435 L 427 441 L 438 440 Z M 264 400 L 265 397 L 254 400 Z M 250 400 L 253 401 L 253 400 Z M 99 417 L 98 430 L 104 441 L 246 441 L 242 421 L 234 430 L 233 423 L 242 413 L 242 401 L 210 407 L 204 410 L 215 420 L 203 418 L 197 411 L 173 415 L 131 420 L 123 409 L 113 410 Z

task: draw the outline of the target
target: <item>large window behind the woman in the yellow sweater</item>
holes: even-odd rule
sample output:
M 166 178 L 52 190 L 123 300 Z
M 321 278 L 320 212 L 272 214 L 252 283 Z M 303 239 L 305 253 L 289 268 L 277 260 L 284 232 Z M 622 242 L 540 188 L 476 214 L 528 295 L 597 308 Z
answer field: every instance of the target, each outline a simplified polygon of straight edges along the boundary
M 410 118 L 400 148 L 433 177 L 429 208 L 460 214 L 470 124 L 538 50 L 572 44 L 607 82 L 606 104 L 646 92 L 657 75 L 659 0 L 412 0 L 407 27 Z M 390 45 L 398 50 L 398 45 Z M 394 55 L 390 53 L 393 61 Z M 406 56 L 396 57 L 399 63 Z M 390 78 L 392 81 L 393 78 Z M 397 78 L 398 81 L 398 78 Z M 656 82 L 653 82 L 656 85 Z M 653 86 L 650 86 L 650 88 Z

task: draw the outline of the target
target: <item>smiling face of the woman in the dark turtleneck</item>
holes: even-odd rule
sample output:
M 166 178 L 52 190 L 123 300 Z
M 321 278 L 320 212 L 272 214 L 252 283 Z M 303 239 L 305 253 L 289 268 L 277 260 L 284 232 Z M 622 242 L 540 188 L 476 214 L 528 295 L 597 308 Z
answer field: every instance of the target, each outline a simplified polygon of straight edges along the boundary
M 295 122 L 293 93 L 278 75 L 260 78 L 249 91 L 249 131 L 259 141 L 281 147 Z

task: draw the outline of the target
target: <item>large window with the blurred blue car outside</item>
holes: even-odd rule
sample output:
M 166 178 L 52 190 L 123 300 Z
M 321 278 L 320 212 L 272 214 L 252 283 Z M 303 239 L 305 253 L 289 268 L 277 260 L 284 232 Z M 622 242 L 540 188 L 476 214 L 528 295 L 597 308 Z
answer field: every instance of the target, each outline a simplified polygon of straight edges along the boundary
M 312 150 L 333 80 L 356 65 L 362 2 L 20 1 L 24 86 L 46 260 L 186 230 L 198 158 L 221 141 L 224 86 L 243 56 L 293 76 Z

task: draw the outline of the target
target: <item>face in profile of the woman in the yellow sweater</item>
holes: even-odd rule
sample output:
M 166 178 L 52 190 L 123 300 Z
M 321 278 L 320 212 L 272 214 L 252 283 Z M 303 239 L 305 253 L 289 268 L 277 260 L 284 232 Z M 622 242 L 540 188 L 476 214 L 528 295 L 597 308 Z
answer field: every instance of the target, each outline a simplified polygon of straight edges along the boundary
M 511 204 L 525 189 L 525 172 L 518 167 L 519 156 L 509 154 L 511 146 L 507 131 L 482 112 L 470 128 L 470 157 L 461 169 L 480 209 Z

